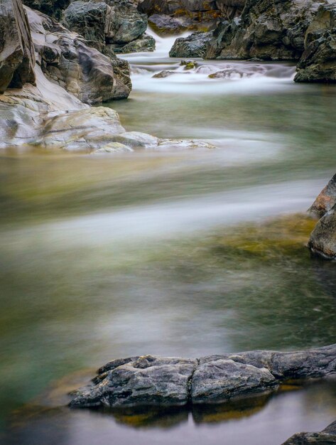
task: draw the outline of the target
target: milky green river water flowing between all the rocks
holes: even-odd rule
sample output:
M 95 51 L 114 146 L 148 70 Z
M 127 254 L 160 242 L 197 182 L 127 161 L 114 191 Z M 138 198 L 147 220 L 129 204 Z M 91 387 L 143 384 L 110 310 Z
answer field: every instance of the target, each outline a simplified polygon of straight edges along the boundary
M 168 58 L 172 43 L 124 56 L 134 90 L 110 105 L 126 129 L 216 149 L 1 158 L 6 443 L 279 445 L 336 417 L 335 382 L 253 409 L 131 415 L 31 402 L 119 356 L 335 343 L 335 265 L 310 258 L 314 222 L 294 215 L 335 173 L 335 87 L 295 85 L 291 64 L 198 60 L 185 71 Z M 152 77 L 161 70 L 175 73 Z

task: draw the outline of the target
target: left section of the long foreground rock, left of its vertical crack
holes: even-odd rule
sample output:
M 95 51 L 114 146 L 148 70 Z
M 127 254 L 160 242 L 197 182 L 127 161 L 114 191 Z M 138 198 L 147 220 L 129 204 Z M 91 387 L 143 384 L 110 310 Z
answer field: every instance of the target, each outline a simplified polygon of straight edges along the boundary
M 107 372 L 104 380 L 83 392 L 71 407 L 185 405 L 197 360 L 144 355 Z

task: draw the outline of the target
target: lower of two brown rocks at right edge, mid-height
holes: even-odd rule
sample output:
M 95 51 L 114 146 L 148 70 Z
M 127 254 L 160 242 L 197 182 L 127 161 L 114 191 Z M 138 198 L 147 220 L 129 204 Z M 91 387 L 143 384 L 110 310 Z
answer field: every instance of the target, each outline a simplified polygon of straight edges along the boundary
M 308 247 L 314 254 L 336 259 L 336 205 L 318 221 L 310 234 Z

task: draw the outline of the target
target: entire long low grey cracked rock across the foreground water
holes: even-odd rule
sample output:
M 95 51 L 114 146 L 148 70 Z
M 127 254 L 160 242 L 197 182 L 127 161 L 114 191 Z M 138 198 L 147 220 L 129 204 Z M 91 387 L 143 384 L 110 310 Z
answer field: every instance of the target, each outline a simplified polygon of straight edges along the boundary
M 112 360 L 71 407 L 229 402 L 264 395 L 288 379 L 336 373 L 336 345 L 293 353 L 249 351 L 197 360 L 152 355 Z

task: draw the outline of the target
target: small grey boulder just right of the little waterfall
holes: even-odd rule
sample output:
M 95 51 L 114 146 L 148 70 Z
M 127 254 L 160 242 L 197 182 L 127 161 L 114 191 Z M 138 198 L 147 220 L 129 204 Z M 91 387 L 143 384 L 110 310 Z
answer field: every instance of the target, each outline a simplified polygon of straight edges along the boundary
M 169 57 L 204 57 L 207 44 L 212 38 L 212 33 L 193 33 L 186 38 L 177 38 L 169 51 Z

